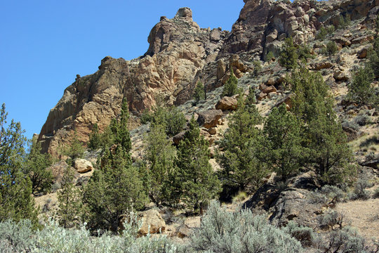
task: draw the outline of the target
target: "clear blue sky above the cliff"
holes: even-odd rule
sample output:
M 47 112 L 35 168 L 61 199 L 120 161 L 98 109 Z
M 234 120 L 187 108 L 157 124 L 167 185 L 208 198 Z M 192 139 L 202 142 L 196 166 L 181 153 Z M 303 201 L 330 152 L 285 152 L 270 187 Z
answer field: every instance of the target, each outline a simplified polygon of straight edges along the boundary
M 230 30 L 244 1 L 0 0 L 0 103 L 9 121 L 28 138 L 39 133 L 76 74 L 92 74 L 105 56 L 141 56 L 159 18 L 184 6 L 200 27 Z

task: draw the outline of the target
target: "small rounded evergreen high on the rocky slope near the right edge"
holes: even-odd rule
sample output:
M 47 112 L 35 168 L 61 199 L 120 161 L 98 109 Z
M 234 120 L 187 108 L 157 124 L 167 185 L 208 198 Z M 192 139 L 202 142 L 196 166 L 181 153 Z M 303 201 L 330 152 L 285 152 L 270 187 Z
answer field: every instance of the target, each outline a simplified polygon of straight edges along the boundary
M 375 76 L 370 67 L 359 67 L 349 85 L 347 98 L 359 104 L 371 104 L 375 101 L 375 89 L 371 86 Z

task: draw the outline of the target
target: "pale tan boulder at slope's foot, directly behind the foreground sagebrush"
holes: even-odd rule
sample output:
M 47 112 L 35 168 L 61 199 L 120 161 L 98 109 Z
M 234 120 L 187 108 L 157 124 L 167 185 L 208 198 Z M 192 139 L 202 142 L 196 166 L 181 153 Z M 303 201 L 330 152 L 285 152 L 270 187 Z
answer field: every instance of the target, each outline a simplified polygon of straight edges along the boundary
M 141 212 L 138 216 L 142 221 L 142 226 L 138 231 L 139 235 L 160 233 L 166 230 L 166 223 L 157 209 L 149 209 Z

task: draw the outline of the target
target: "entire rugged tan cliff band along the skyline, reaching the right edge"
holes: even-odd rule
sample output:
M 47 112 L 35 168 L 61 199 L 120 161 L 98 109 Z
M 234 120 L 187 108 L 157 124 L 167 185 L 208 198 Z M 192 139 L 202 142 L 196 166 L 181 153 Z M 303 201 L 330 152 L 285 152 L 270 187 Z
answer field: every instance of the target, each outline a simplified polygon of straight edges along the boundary
M 39 134 L 44 151 L 58 154 L 74 131 L 88 141 L 93 124 L 104 129 L 119 115 L 126 98 L 134 115 L 157 100 L 179 105 L 191 99 L 201 79 L 211 90 L 225 83 L 231 66 L 237 77 L 252 69 L 251 60 L 268 51 L 279 52 L 286 37 L 298 44 L 313 39 L 321 25 L 338 25 L 341 15 L 372 18 L 379 0 L 244 0 L 231 32 L 201 29 L 189 8 L 173 19 L 161 17 L 149 34 L 149 48 L 134 60 L 101 61 L 99 70 L 78 77 L 51 109 Z

